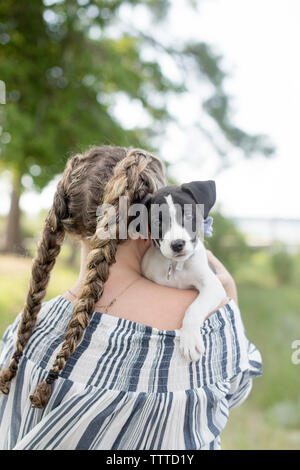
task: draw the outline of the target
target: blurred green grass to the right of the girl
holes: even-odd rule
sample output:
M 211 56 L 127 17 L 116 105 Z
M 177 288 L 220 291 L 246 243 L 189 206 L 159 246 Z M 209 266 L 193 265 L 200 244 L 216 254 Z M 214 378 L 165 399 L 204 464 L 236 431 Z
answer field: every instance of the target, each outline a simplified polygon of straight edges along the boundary
M 298 266 L 298 264 L 297 264 Z M 266 254 L 236 273 L 239 306 L 248 338 L 263 358 L 263 375 L 248 400 L 231 410 L 224 449 L 300 449 L 300 365 L 292 342 L 300 339 L 299 277 L 280 285 Z

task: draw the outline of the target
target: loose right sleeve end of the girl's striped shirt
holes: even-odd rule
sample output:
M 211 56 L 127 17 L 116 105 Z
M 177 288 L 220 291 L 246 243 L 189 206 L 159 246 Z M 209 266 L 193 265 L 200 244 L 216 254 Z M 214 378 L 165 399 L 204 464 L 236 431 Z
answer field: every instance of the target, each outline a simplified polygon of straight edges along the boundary
M 253 343 L 248 343 L 248 366 L 230 379 L 230 389 L 226 396 L 229 408 L 241 405 L 249 396 L 253 378 L 262 375 L 262 358 Z

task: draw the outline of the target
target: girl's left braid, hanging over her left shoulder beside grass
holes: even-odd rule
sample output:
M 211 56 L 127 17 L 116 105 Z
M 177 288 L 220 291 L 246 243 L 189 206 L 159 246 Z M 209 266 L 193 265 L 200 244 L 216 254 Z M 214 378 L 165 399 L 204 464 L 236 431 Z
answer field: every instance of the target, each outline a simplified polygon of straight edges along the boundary
M 42 300 L 50 279 L 50 272 L 55 264 L 64 240 L 65 231 L 62 219 L 67 216 L 67 207 L 62 185 L 59 184 L 54 196 L 53 206 L 48 212 L 42 237 L 33 260 L 29 291 L 18 326 L 16 351 L 8 368 L 0 372 L 0 390 L 9 393 L 9 382 L 16 376 L 19 360 L 34 330 Z

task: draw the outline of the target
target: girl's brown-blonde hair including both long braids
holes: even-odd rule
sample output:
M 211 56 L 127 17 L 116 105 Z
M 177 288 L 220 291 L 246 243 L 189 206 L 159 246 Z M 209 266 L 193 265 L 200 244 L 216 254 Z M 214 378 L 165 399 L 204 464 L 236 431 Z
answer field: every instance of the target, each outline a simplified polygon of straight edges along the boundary
M 18 363 L 35 328 L 50 273 L 65 235 L 89 239 L 91 250 L 87 275 L 61 350 L 45 381 L 30 396 L 32 406 L 37 408 L 43 408 L 48 402 L 51 384 L 82 339 L 95 303 L 102 295 L 109 267 L 116 260 L 117 245 L 123 241 L 118 238 L 118 229 L 115 238 L 109 234 L 101 238 L 98 236 L 98 231 L 106 224 L 105 217 L 99 220 L 98 208 L 102 204 L 110 204 L 118 214 L 121 196 L 126 196 L 128 205 L 133 204 L 164 185 L 166 179 L 162 162 L 141 149 L 93 147 L 67 161 L 33 260 L 29 291 L 18 326 L 16 350 L 8 368 L 0 372 L 0 390 L 3 393 L 9 393 L 10 381 L 17 374 Z

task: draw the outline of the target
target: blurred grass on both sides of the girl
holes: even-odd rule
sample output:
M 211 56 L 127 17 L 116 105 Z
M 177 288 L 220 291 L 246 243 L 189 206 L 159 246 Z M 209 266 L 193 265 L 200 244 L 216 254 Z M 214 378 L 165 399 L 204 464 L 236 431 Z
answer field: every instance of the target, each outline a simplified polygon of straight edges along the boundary
M 66 291 L 77 277 L 67 255 L 63 248 L 46 299 Z M 0 336 L 23 307 L 30 267 L 28 259 L 0 256 Z M 300 339 L 299 278 L 280 285 L 264 254 L 253 256 L 235 277 L 247 336 L 261 351 L 264 369 L 248 400 L 231 411 L 222 447 L 300 449 L 300 365 L 291 361 L 291 344 Z

